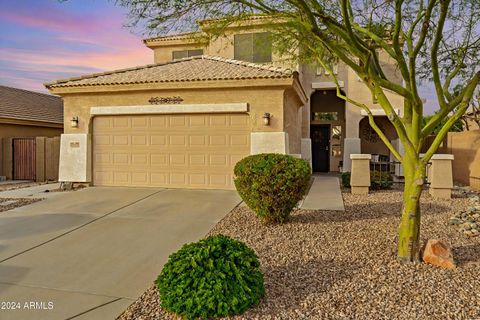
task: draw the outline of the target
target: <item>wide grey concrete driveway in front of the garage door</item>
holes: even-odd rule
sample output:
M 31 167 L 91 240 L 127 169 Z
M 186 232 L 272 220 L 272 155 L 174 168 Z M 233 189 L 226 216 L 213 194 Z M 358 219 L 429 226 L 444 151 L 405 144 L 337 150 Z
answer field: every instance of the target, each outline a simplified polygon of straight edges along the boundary
M 114 319 L 239 202 L 235 191 L 95 187 L 0 213 L 0 319 Z

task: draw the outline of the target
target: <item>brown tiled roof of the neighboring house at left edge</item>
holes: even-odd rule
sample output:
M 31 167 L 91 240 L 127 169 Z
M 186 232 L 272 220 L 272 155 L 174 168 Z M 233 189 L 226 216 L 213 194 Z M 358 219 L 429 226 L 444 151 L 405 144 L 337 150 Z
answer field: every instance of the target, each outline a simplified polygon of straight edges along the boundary
M 0 85 L 0 118 L 63 123 L 63 99 Z

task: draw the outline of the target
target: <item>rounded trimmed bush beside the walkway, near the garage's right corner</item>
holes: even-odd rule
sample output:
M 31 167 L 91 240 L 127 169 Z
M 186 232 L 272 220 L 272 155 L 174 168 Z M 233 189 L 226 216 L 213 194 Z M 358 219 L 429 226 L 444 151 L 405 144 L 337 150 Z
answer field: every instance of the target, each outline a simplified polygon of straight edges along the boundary
M 240 160 L 235 187 L 247 206 L 265 222 L 285 222 L 310 183 L 308 162 L 284 154 L 264 153 Z

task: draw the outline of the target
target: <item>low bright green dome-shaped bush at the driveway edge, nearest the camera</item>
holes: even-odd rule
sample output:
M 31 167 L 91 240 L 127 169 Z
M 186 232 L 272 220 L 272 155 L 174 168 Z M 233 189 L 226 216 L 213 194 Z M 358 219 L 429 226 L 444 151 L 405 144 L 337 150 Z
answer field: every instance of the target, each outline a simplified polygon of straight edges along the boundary
M 187 319 L 241 314 L 265 294 L 255 252 L 224 235 L 184 245 L 155 283 L 162 308 Z

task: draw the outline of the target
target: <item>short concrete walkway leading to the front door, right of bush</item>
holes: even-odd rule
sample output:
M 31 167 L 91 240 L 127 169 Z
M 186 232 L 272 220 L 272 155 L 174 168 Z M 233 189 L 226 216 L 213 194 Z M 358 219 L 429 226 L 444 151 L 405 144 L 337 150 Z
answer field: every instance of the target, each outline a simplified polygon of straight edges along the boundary
M 300 207 L 306 210 L 345 211 L 339 178 L 315 175 L 310 191 Z

